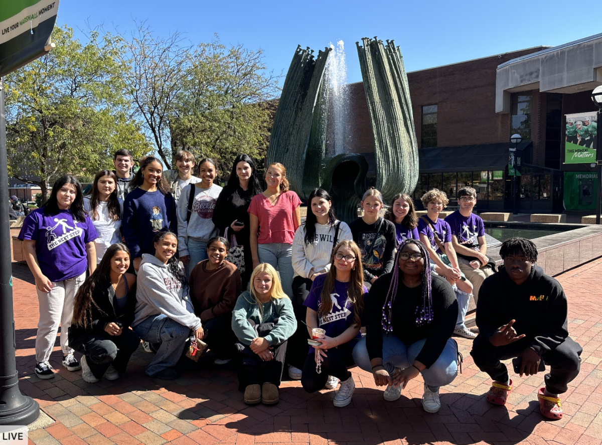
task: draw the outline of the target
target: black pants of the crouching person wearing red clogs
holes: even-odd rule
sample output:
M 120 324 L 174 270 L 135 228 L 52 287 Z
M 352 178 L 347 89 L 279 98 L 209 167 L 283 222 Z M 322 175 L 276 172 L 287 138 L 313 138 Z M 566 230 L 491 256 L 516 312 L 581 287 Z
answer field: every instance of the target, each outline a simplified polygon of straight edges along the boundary
M 518 357 L 528 346 L 529 344 L 524 341 L 517 341 L 506 346 L 493 346 L 487 338 L 479 335 L 473 341 L 473 350 L 470 355 L 473 356 L 474 363 L 481 371 L 488 373 L 493 380 L 505 382 L 508 379 L 508 370 L 500 360 Z M 550 393 L 566 392 L 568 382 L 579 374 L 582 351 L 579 343 L 571 337 L 566 337 L 566 340 L 560 343 L 556 349 L 544 352 L 541 358 L 550 365 L 550 373 L 544 376 L 545 388 Z

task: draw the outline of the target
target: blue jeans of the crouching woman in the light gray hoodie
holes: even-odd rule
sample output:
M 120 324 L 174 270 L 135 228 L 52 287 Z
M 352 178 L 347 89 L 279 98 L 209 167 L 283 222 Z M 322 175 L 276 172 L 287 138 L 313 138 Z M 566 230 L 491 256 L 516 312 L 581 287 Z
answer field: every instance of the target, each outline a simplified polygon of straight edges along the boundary
M 165 314 L 150 316 L 132 329 L 157 351 L 146 368 L 146 375 L 151 377 L 164 369 L 176 366 L 184 352 L 186 340 L 190 337 L 190 328 L 182 326 Z

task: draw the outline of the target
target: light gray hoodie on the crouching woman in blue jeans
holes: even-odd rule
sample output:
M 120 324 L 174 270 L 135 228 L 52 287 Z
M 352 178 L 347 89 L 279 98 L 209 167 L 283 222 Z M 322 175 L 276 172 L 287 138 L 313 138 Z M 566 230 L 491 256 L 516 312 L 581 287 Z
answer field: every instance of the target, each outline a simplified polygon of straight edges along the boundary
M 188 286 L 183 287 L 169 272 L 167 264 L 163 264 L 155 255 L 142 255 L 137 284 L 132 328 L 148 317 L 159 314 L 165 314 L 193 331 L 200 328 L 200 319 L 194 315 Z

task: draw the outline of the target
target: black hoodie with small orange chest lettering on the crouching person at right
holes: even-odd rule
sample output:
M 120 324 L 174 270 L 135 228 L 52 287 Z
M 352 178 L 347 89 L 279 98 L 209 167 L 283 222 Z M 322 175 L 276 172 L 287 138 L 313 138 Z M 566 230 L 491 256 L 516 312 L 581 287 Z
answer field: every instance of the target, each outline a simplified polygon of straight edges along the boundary
M 520 286 L 508 276 L 504 266 L 483 281 L 477 302 L 480 335 L 491 337 L 500 326 L 516 320 L 514 329 L 525 334 L 517 349 L 531 347 L 540 356 L 556 348 L 568 337 L 567 302 L 562 286 L 539 266 Z

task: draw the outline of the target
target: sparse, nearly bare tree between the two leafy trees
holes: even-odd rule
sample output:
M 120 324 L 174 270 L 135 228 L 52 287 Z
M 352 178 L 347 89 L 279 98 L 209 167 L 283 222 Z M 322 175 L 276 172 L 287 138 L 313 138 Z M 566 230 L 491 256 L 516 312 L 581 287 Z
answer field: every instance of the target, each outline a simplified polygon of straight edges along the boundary
M 110 34 L 107 34 L 110 36 Z M 181 33 L 167 39 L 155 36 L 144 22 L 137 23 L 131 39 L 123 37 L 123 64 L 130 67 L 125 79 L 129 97 L 135 105 L 144 129 L 152 136 L 157 153 L 167 169 L 172 168 L 169 116 L 176 96 L 184 86 L 190 64 L 190 46 Z

